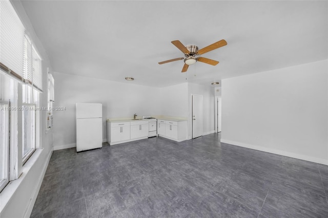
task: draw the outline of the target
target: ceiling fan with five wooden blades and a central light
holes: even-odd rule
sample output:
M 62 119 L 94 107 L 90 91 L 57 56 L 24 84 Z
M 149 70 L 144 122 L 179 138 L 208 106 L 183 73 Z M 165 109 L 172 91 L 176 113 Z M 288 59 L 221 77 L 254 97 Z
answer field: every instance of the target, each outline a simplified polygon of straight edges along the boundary
M 171 43 L 173 45 L 175 45 L 183 54 L 185 54 L 185 57 L 174 58 L 171 60 L 166 60 L 166 61 L 162 61 L 162 62 L 158 62 L 158 63 L 163 64 L 163 63 L 168 63 L 168 62 L 172 62 L 172 61 L 176 61 L 176 60 L 183 60 L 183 61 L 185 61 L 185 65 L 183 65 L 183 68 L 181 71 L 182 73 L 187 72 L 189 65 L 192 65 L 192 64 L 196 63 L 197 61 L 215 66 L 216 64 L 219 63 L 219 61 L 212 60 L 212 59 L 209 59 L 206 57 L 197 57 L 197 56 L 227 45 L 227 41 L 222 39 L 220 41 L 213 43 L 212 45 L 209 45 L 205 48 L 198 50 L 197 46 L 183 46 L 183 44 L 179 40 L 171 41 Z

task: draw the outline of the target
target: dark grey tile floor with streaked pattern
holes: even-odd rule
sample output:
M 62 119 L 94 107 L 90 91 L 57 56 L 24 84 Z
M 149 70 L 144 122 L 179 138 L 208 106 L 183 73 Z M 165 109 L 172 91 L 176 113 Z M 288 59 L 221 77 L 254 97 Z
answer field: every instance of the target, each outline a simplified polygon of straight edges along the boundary
M 328 166 L 220 134 L 53 152 L 31 217 L 328 217 Z

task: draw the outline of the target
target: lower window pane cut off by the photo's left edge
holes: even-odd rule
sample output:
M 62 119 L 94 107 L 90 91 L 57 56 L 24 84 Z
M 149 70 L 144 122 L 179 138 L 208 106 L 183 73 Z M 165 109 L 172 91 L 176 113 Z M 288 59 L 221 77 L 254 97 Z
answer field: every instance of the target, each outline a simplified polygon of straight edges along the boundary
M 0 101 L 0 191 L 9 182 L 9 108 L 7 101 Z

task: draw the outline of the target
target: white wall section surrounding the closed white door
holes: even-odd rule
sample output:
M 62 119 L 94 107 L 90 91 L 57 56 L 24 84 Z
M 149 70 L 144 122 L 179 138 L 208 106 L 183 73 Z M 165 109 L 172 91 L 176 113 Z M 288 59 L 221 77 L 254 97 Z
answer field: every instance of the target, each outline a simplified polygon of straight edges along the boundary
M 192 138 L 192 95 L 203 96 L 203 136 L 214 133 L 214 93 L 210 85 L 188 83 L 188 139 Z

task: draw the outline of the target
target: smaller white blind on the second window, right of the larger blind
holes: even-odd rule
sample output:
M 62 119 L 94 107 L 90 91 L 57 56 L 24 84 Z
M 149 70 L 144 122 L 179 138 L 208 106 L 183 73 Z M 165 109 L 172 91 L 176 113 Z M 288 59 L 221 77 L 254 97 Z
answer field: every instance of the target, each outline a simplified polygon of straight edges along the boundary
M 25 82 L 33 84 L 42 91 L 42 60 L 27 35 L 25 35 L 24 47 L 23 77 Z

